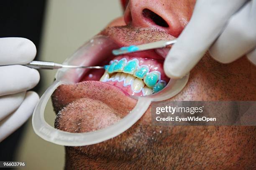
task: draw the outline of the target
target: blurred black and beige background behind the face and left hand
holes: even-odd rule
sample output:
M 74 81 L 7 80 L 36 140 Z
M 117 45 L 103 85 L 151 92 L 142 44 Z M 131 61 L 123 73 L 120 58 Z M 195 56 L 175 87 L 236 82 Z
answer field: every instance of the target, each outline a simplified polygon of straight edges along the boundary
M 100 32 L 111 20 L 123 14 L 120 0 L 0 2 L 2 8 L 5 7 L 4 5 L 9 5 L 9 8 L 5 14 L 1 12 L 0 37 L 18 36 L 31 39 L 38 49 L 37 60 L 59 63 L 72 55 L 89 38 Z M 12 16 L 5 18 L 5 15 Z M 10 28 L 15 32 L 12 32 Z M 56 71 L 53 70 L 40 71 L 40 84 L 35 89 L 39 96 L 51 85 L 55 73 Z M 51 102 L 46 107 L 45 118 L 53 125 L 55 113 Z M 13 154 L 10 153 L 8 147 L 13 148 Z M 64 147 L 38 137 L 33 132 L 31 118 L 20 130 L 0 143 L 0 152 L 0 160 L 6 158 L 25 161 L 27 170 L 56 170 L 64 167 Z

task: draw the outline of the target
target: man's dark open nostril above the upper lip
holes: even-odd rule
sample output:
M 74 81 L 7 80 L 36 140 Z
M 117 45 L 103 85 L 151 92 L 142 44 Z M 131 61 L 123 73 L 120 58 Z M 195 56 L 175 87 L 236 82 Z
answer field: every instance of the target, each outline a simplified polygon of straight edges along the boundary
M 159 25 L 161 27 L 169 27 L 169 25 L 166 23 L 166 21 L 163 18 L 161 18 L 161 16 L 157 15 L 156 13 L 154 13 L 149 9 L 142 10 L 142 15 L 145 18 L 152 20 L 156 25 Z

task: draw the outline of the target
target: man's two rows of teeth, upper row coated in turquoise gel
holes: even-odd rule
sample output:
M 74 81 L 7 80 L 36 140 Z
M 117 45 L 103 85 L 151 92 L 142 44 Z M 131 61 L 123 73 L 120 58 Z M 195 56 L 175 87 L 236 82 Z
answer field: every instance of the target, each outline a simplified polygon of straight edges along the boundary
M 100 81 L 124 81 L 124 86 L 131 85 L 133 92 L 142 91 L 143 95 L 162 90 L 166 82 L 161 80 L 161 73 L 159 71 L 149 72 L 147 65 L 140 66 L 138 63 L 138 59 L 127 61 L 126 58 L 110 61 L 110 65 L 105 65 L 106 71 Z

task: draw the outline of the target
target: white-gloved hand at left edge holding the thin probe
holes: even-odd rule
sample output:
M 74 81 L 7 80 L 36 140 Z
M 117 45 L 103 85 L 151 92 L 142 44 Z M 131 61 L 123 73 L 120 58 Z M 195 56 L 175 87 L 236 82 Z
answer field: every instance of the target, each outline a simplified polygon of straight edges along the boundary
M 38 102 L 36 92 L 26 92 L 38 83 L 38 71 L 17 65 L 35 55 L 36 46 L 26 38 L 0 38 L 0 142 L 31 116 Z

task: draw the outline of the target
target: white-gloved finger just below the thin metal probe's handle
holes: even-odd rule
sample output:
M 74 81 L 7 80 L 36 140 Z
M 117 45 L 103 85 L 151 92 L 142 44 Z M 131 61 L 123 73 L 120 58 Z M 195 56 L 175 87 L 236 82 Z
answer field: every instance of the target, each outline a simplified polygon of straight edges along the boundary
M 36 86 L 39 81 L 37 70 L 23 65 L 0 67 L 0 96 L 26 91 Z

